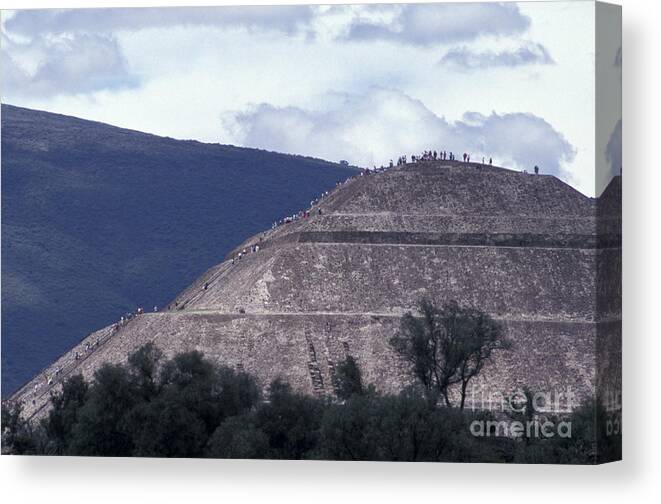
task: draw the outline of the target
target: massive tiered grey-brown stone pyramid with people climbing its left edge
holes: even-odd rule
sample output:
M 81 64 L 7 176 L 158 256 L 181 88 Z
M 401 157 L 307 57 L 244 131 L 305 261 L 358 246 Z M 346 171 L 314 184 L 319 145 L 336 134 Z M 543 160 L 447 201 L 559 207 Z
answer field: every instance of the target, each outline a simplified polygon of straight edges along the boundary
M 616 178 L 603 198 L 618 191 Z M 482 310 L 514 343 L 471 382 L 469 405 L 522 386 L 593 395 L 621 331 L 618 286 L 598 274 L 619 276 L 619 213 L 600 203 L 550 175 L 474 163 L 365 172 L 239 244 L 164 309 L 90 334 L 12 400 L 38 416 L 64 378 L 147 342 L 317 396 L 335 394 L 352 356 L 366 383 L 397 392 L 411 378 L 388 341 L 423 298 Z

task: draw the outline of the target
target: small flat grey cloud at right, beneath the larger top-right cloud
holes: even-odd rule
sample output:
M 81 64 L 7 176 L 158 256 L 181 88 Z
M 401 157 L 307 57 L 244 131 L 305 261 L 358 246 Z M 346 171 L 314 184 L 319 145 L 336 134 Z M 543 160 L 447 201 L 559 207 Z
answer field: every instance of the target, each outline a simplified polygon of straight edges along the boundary
M 554 61 L 543 45 L 528 42 L 515 50 L 500 52 L 474 52 L 466 47 L 459 47 L 448 51 L 439 63 L 460 70 L 477 70 L 524 65 L 551 65 Z

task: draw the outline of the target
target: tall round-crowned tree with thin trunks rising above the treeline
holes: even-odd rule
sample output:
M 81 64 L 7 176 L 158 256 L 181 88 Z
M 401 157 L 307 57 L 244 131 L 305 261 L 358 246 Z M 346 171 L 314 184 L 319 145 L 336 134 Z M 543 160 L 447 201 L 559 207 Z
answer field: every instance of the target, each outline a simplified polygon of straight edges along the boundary
M 511 344 L 498 322 L 456 301 L 437 308 L 422 300 L 419 311 L 420 316 L 408 312 L 402 317 L 400 332 L 390 344 L 425 389 L 440 394 L 447 406 L 452 406 L 450 387 L 459 384 L 463 409 L 470 380 L 480 374 L 494 350 Z

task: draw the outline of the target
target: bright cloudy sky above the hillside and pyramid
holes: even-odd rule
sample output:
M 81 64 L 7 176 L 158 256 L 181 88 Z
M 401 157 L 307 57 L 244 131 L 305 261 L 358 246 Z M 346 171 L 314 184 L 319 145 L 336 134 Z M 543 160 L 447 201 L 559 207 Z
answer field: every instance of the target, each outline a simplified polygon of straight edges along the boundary
M 424 149 L 601 193 L 594 3 L 3 11 L 3 103 L 372 167 Z M 606 73 L 621 72 L 621 48 Z M 619 56 L 618 56 L 619 55 Z M 610 63 L 612 61 L 612 64 Z M 612 67 L 612 68 L 611 68 Z M 595 152 L 599 149 L 599 152 Z

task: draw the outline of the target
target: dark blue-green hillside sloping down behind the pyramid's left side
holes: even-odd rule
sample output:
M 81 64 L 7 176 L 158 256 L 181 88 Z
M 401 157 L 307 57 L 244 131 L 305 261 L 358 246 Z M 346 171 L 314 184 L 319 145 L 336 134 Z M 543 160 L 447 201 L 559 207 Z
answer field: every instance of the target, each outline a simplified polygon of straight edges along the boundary
M 353 173 L 3 104 L 3 397 Z

